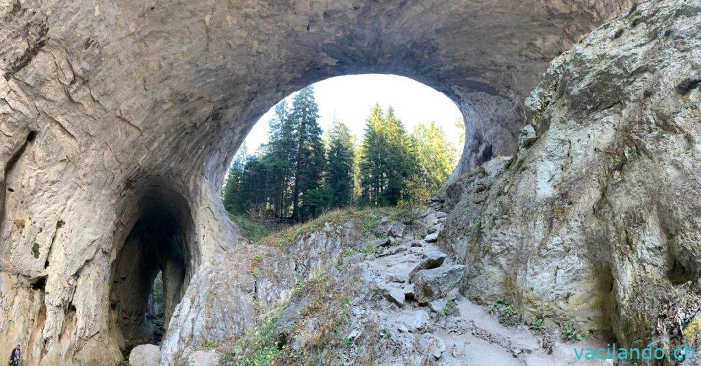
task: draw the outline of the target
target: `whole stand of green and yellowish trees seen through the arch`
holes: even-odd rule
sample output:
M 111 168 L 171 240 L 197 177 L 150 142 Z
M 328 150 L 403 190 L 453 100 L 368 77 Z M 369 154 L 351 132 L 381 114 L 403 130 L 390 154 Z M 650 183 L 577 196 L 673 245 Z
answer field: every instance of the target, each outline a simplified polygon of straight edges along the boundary
M 401 203 L 411 219 L 456 162 L 440 127 L 421 124 L 409 135 L 392 107 L 374 106 L 358 152 L 346 124 L 334 121 L 325 143 L 317 120 L 314 90 L 304 88 L 275 106 L 268 143 L 254 154 L 244 145 L 233 159 L 222 201 L 250 240 L 339 208 Z

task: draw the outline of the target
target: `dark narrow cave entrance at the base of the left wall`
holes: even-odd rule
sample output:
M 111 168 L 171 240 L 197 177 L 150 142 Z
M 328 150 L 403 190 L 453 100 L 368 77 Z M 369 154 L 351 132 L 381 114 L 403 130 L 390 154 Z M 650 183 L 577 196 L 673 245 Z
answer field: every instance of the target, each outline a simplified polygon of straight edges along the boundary
M 123 351 L 160 344 L 189 280 L 189 210 L 182 200 L 156 194 L 142 201 L 141 215 L 114 262 L 111 319 Z

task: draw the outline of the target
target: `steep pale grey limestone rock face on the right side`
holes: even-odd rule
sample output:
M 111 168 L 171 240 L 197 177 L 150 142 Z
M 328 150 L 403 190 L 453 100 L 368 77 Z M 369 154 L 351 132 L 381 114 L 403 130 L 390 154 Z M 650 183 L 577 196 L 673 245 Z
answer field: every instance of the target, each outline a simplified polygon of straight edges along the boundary
M 522 148 L 448 189 L 439 244 L 468 265 L 468 298 L 624 344 L 648 344 L 667 301 L 693 304 L 700 30 L 701 1 L 651 1 L 552 62 Z

